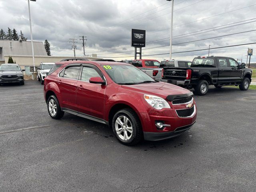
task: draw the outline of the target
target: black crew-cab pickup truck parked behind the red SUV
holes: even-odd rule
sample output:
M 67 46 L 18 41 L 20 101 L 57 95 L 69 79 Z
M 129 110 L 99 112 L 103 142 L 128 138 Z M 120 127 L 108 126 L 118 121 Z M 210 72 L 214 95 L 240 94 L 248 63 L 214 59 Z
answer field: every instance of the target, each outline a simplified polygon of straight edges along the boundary
M 216 88 L 236 85 L 240 90 L 248 90 L 252 70 L 230 57 L 198 56 L 188 68 L 164 67 L 161 80 L 188 89 L 194 88 L 195 94 L 205 95 L 209 85 Z

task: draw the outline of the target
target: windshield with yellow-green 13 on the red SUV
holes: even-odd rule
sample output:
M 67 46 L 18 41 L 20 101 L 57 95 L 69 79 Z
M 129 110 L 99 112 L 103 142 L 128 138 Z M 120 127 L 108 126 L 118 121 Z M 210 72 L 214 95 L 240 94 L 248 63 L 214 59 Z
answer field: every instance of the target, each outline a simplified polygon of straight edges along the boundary
M 130 65 L 103 65 L 102 68 L 117 84 L 140 84 L 156 82 L 142 70 Z

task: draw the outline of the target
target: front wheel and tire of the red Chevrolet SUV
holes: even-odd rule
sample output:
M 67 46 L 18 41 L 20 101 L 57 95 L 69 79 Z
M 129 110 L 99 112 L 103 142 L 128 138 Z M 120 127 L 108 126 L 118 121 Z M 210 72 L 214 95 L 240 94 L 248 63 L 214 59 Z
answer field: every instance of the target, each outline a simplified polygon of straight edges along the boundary
M 116 112 L 112 129 L 117 140 L 124 145 L 133 146 L 142 140 L 140 119 L 132 109 L 126 108 Z

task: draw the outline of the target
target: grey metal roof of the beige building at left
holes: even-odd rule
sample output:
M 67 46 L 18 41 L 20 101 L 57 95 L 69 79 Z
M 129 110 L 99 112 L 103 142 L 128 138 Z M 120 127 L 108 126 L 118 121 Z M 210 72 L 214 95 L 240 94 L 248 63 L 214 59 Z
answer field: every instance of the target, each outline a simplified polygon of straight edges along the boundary
M 33 41 L 33 45 L 35 56 L 47 56 L 43 42 Z M 0 40 L 0 48 L 0 60 L 4 60 L 4 55 L 32 55 L 31 41 Z

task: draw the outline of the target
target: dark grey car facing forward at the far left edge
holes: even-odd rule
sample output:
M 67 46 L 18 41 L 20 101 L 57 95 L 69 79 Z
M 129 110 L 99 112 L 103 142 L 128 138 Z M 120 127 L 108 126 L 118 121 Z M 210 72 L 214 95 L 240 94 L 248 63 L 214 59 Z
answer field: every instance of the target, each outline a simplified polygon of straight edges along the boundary
M 6 63 L 0 66 L 0 84 L 18 82 L 24 85 L 24 69 L 18 64 Z

